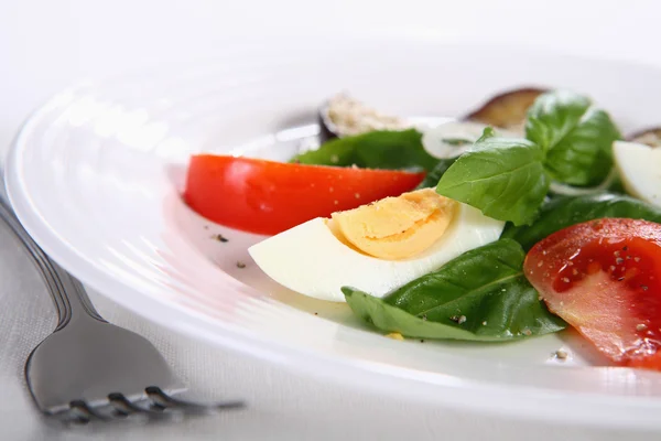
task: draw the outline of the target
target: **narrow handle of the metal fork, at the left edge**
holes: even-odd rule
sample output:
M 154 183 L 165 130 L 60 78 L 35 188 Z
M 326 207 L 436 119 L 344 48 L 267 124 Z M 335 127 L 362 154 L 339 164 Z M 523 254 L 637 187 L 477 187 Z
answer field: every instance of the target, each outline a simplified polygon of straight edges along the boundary
M 93 318 L 106 322 L 93 306 L 91 301 L 85 292 L 85 288 L 83 288 L 83 283 L 74 279 L 46 256 L 32 237 L 30 237 L 2 197 L 0 197 L 0 217 L 4 219 L 7 225 L 9 225 L 21 240 L 46 282 L 48 293 L 53 298 L 55 309 L 57 310 L 58 321 L 55 331 L 62 330 L 72 320 L 83 318 Z

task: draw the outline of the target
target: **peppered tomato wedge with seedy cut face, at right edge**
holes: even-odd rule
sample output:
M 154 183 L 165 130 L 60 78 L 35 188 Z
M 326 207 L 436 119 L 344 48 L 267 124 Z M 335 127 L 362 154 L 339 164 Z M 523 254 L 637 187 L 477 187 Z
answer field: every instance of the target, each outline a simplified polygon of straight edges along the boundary
M 661 225 L 603 218 L 538 243 L 523 263 L 549 310 L 617 364 L 661 370 Z

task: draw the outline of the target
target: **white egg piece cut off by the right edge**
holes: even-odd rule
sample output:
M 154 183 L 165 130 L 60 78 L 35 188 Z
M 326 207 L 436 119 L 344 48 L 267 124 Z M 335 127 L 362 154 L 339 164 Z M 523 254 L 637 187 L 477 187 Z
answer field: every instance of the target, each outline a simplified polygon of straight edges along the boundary
M 615 141 L 613 154 L 627 192 L 661 207 L 661 148 Z

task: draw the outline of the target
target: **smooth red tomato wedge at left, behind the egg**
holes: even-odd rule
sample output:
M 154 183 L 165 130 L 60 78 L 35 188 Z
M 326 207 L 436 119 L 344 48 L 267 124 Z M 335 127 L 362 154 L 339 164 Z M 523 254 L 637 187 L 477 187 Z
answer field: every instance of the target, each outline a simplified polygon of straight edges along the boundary
M 184 201 L 228 227 L 273 235 L 315 217 L 413 190 L 424 172 L 306 165 L 199 154 Z

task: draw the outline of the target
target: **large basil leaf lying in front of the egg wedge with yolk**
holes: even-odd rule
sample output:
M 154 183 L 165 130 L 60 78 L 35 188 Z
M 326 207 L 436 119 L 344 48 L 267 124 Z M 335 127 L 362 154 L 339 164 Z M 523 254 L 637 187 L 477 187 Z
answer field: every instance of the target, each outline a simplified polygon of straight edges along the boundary
M 409 337 L 505 341 L 556 332 L 551 314 L 523 275 L 525 254 L 502 239 L 473 249 L 383 299 L 342 290 L 356 315 Z

